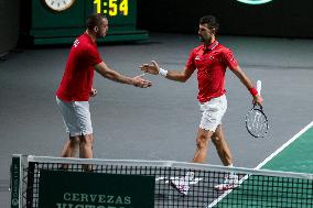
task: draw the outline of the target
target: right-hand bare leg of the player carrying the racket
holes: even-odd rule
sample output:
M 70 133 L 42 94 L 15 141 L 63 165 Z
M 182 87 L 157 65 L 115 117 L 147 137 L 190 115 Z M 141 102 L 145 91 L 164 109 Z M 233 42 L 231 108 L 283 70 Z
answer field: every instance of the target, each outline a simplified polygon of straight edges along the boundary
M 219 124 L 212 135 L 212 141 L 217 150 L 218 156 L 225 166 L 233 165 L 233 155 L 225 140 L 223 127 Z

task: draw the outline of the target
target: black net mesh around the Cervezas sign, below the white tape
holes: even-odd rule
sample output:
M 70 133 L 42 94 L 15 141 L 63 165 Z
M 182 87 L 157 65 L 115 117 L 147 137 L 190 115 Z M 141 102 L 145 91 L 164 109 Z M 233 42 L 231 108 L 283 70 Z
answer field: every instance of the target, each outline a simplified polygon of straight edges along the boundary
M 91 162 L 89 163 L 91 164 Z M 179 164 L 179 163 L 177 163 Z M 26 208 L 39 207 L 42 169 L 154 176 L 154 207 L 313 207 L 313 180 L 307 175 L 283 174 L 208 165 L 140 165 L 140 162 L 86 165 L 30 162 L 24 168 Z M 274 173 L 274 174 L 273 174 Z M 268 174 L 268 175 L 267 175 Z

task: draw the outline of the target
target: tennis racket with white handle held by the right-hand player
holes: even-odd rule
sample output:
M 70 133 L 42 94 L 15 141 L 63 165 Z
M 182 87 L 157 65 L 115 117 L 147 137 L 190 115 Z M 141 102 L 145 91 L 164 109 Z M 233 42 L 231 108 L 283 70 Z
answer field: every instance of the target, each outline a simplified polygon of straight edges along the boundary
M 257 90 L 261 95 L 262 83 L 257 81 Z M 265 138 L 269 130 L 269 122 L 263 107 L 253 103 L 251 110 L 246 114 L 246 128 L 253 138 Z

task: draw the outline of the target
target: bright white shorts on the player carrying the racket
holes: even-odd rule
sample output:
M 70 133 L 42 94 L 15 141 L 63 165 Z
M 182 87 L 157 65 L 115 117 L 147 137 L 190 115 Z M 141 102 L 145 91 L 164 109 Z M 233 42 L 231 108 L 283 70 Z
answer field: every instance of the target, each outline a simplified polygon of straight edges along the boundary
M 207 102 L 199 102 L 202 118 L 199 128 L 215 132 L 218 124 L 222 124 L 223 116 L 227 109 L 227 99 L 223 95 L 218 98 L 213 98 Z

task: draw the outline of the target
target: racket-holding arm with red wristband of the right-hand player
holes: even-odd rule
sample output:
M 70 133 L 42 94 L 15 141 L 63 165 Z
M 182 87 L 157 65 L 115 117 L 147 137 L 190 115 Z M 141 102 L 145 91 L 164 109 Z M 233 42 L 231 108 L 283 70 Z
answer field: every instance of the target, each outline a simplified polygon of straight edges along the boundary
M 258 94 L 256 90 L 252 81 L 249 79 L 249 77 L 241 70 L 240 66 L 236 66 L 231 70 L 239 79 L 240 81 L 246 86 L 246 88 L 250 91 L 250 94 L 253 96 L 253 100 L 257 105 L 262 106 L 262 97 Z

